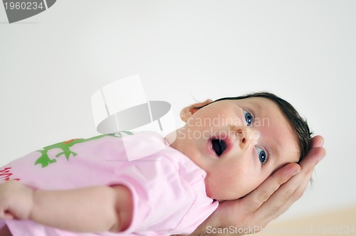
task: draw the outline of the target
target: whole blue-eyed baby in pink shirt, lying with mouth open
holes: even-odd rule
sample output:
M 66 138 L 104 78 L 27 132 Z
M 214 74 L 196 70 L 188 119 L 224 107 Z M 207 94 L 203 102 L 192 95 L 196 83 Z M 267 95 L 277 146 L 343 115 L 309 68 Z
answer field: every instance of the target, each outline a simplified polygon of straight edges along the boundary
M 4 166 L 0 235 L 189 234 L 219 202 L 244 197 L 309 150 L 308 124 L 268 92 L 206 100 L 181 118 L 165 139 L 74 139 Z

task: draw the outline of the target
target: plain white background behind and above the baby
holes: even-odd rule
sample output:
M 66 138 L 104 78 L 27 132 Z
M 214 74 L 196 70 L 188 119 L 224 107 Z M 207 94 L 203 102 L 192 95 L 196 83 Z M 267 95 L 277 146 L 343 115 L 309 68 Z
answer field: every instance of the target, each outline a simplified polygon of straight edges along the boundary
M 0 165 L 98 134 L 90 98 L 140 74 L 179 110 L 267 90 L 325 137 L 315 185 L 280 220 L 356 204 L 356 1 L 69 1 L 19 23 L 0 6 Z

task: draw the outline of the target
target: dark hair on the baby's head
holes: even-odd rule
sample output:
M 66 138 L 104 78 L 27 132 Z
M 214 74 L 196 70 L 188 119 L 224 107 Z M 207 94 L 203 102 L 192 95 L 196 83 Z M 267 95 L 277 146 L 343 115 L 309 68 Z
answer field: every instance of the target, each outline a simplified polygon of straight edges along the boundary
M 297 134 L 300 147 L 300 157 L 298 163 L 302 161 L 306 154 L 308 154 L 308 151 L 310 149 L 310 139 L 312 132 L 310 132 L 306 120 L 300 117 L 300 114 L 298 114 L 298 112 L 289 102 L 281 99 L 281 97 L 278 97 L 271 92 L 253 92 L 248 95 L 243 95 L 239 97 L 223 97 L 218 100 L 215 100 L 214 102 L 218 102 L 221 100 L 242 100 L 248 97 L 264 97 L 278 104 L 278 107 L 281 109 L 283 114 L 285 114 L 289 124 L 295 131 L 295 134 Z

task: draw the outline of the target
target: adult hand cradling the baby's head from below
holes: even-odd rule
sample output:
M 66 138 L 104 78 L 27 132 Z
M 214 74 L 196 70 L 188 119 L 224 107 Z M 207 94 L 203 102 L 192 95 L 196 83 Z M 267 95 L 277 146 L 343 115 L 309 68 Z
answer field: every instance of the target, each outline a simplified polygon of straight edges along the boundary
M 266 227 L 303 195 L 315 165 L 325 156 L 323 141 L 322 136 L 311 139 L 300 165 L 289 163 L 244 198 L 220 203 L 192 235 L 218 235 L 224 229 L 231 234 L 219 235 L 246 235 Z

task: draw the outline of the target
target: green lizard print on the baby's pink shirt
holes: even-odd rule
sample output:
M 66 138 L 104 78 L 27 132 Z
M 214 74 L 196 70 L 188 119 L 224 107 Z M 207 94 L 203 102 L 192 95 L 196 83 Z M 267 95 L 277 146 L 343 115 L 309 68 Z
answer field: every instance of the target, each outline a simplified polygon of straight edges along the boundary
M 128 135 L 132 135 L 132 132 L 127 132 L 127 131 L 122 131 L 122 132 L 117 132 L 117 133 L 112 133 L 112 134 L 102 134 L 99 136 L 94 136 L 90 139 L 70 139 L 68 141 L 64 141 L 58 144 L 52 144 L 50 146 L 46 146 L 43 149 L 37 150 L 38 152 L 41 152 L 41 156 L 36 160 L 35 165 L 37 164 L 41 164 L 42 168 L 45 168 L 46 166 L 48 166 L 51 163 L 56 163 L 56 159 L 50 159 L 48 156 L 48 151 L 51 149 L 62 149 L 62 151 L 56 155 L 56 158 L 58 158 L 59 156 L 66 156 L 66 159 L 69 161 L 69 157 L 70 154 L 72 154 L 72 156 L 77 156 L 78 154 L 76 154 L 73 151 L 70 151 L 70 147 L 73 146 L 74 144 L 80 144 L 83 143 L 85 141 L 91 141 L 91 140 L 95 140 L 95 139 L 101 139 L 104 136 L 117 136 L 117 137 L 122 137 L 123 134 L 128 134 Z

